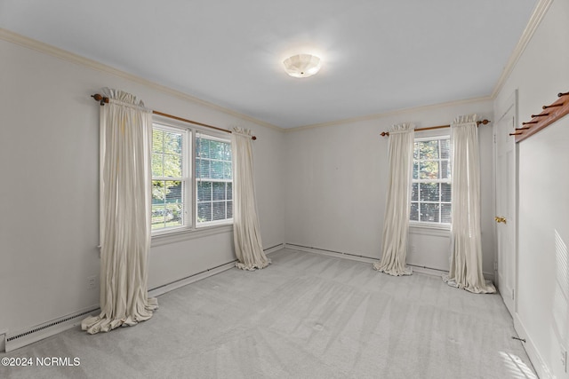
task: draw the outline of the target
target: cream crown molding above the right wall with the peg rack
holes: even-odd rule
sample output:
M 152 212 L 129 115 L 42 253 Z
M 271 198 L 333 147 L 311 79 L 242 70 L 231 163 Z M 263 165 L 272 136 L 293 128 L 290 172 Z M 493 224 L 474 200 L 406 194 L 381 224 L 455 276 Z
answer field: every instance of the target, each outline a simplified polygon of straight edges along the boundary
M 519 38 L 519 41 L 517 41 L 516 48 L 514 49 L 514 51 L 512 51 L 511 55 L 509 56 L 508 63 L 506 63 L 506 66 L 502 70 L 498 82 L 494 86 L 491 95 L 492 99 L 495 99 L 496 96 L 498 96 L 498 93 L 501 91 L 502 87 L 508 80 L 509 75 L 511 75 L 512 71 L 514 70 L 514 67 L 516 67 L 517 61 L 524 53 L 527 44 L 532 40 L 533 34 L 540 26 L 541 20 L 543 20 L 543 17 L 548 12 L 549 6 L 552 3 L 553 0 L 540 0 L 539 3 L 535 5 L 532 17 L 530 17 L 530 20 L 527 22 L 527 26 L 524 29 L 524 33 L 522 33 L 522 36 Z

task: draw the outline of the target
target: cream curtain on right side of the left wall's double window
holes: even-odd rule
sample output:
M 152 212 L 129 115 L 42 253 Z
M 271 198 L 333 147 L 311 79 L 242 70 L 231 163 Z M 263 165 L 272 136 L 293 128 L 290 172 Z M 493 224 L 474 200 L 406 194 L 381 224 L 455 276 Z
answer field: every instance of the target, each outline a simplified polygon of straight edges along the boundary
M 242 270 L 270 265 L 260 240 L 259 217 L 253 180 L 251 130 L 234 128 L 233 143 L 233 240 Z

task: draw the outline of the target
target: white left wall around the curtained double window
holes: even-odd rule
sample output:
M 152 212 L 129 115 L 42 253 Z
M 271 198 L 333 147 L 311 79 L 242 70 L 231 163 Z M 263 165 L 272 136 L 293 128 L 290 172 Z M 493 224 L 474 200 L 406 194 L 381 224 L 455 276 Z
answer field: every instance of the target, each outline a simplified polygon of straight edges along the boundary
M 252 129 L 263 245 L 284 242 L 280 130 L 2 39 L 0 57 L 0 334 L 99 304 L 87 278 L 100 265 L 99 106 L 90 95 L 102 87 L 165 113 Z M 149 288 L 235 259 L 231 232 L 153 245 Z

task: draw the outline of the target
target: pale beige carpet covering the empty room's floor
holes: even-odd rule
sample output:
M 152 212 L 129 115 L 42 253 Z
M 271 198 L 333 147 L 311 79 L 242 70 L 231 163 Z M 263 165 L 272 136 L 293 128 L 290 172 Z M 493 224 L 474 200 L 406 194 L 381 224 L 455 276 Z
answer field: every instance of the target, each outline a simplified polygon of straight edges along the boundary
M 535 378 L 499 295 L 440 278 L 284 249 L 176 289 L 151 320 L 69 329 L 0 357 L 78 358 L 2 367 L 2 378 Z

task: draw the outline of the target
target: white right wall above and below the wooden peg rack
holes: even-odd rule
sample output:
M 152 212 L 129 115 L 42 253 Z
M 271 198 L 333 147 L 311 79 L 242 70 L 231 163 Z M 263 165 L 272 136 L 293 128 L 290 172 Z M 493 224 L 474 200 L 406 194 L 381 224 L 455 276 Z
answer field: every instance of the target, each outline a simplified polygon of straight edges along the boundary
M 556 0 L 541 21 L 494 104 L 519 89 L 520 122 L 569 91 L 569 2 Z M 518 333 L 541 377 L 569 378 L 561 346 L 569 347 L 569 118 L 517 144 Z

